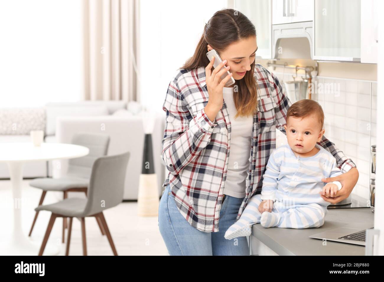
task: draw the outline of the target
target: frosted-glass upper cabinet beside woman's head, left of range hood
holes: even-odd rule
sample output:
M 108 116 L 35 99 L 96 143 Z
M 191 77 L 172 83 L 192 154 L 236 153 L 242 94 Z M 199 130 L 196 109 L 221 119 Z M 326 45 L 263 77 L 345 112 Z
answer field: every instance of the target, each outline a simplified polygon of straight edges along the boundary
M 271 0 L 235 0 L 235 10 L 247 16 L 257 33 L 258 59 L 272 58 L 272 3 Z

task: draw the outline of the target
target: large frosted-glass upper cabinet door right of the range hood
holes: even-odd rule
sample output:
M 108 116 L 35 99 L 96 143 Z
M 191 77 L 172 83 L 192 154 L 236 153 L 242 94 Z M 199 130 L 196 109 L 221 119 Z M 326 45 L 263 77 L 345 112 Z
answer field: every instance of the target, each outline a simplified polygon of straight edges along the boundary
M 313 59 L 360 61 L 360 0 L 314 0 Z

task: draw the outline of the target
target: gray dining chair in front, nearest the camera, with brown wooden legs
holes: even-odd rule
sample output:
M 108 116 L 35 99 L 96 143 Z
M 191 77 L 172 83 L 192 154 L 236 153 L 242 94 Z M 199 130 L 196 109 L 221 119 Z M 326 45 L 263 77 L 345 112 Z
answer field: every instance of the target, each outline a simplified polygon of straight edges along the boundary
M 83 255 L 87 255 L 85 218 L 99 218 L 111 245 L 113 254 L 117 256 L 116 247 L 104 218 L 103 211 L 120 204 L 124 195 L 124 181 L 129 160 L 129 152 L 120 155 L 98 158 L 92 167 L 91 178 L 88 186 L 88 198 L 67 198 L 58 203 L 38 206 L 35 211 L 51 211 L 51 218 L 41 243 L 39 256 L 43 255 L 46 243 L 50 236 L 55 219 L 58 217 L 70 218 L 65 255 L 69 255 L 72 219 L 81 221 L 81 237 L 83 241 Z

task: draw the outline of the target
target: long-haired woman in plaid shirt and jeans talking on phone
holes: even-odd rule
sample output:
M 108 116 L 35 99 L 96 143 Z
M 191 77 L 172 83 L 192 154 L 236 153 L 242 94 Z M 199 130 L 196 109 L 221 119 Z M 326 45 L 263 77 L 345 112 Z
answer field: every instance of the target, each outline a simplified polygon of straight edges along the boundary
M 206 53 L 223 63 L 213 68 Z M 224 238 L 248 200 L 261 193 L 268 158 L 276 148 L 276 125 L 286 134 L 291 105 L 278 79 L 255 63 L 255 26 L 242 13 L 220 10 L 205 25 L 194 56 L 170 81 L 163 110 L 163 160 L 169 176 L 159 205 L 159 229 L 170 255 L 249 255 L 246 237 Z M 227 69 L 230 71 L 220 79 Z M 224 87 L 230 79 L 235 84 Z M 319 142 L 343 175 L 337 203 L 358 180 L 353 161 L 324 136 Z

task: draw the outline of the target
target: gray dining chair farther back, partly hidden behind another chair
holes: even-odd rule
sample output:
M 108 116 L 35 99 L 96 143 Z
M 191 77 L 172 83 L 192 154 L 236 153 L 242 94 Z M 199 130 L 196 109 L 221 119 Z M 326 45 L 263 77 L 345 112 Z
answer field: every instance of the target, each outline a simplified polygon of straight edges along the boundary
M 68 172 L 61 178 L 35 178 L 29 185 L 43 190 L 41 194 L 39 206 L 43 204 L 47 191 L 62 191 L 63 198 L 68 198 L 68 192 L 84 192 L 87 195 L 87 188 L 89 184 L 89 177 L 91 176 L 92 165 L 94 161 L 108 152 L 109 136 L 105 134 L 75 134 L 72 138 L 72 144 L 81 145 L 89 148 L 89 154 L 80 157 L 72 158 L 68 161 Z M 33 227 L 35 226 L 36 219 L 39 212 L 36 211 L 35 218 L 28 236 L 31 236 Z M 103 225 L 99 219 L 96 219 L 104 235 Z M 63 232 L 62 242 L 64 243 L 65 228 L 67 227 L 67 219 L 63 218 Z

